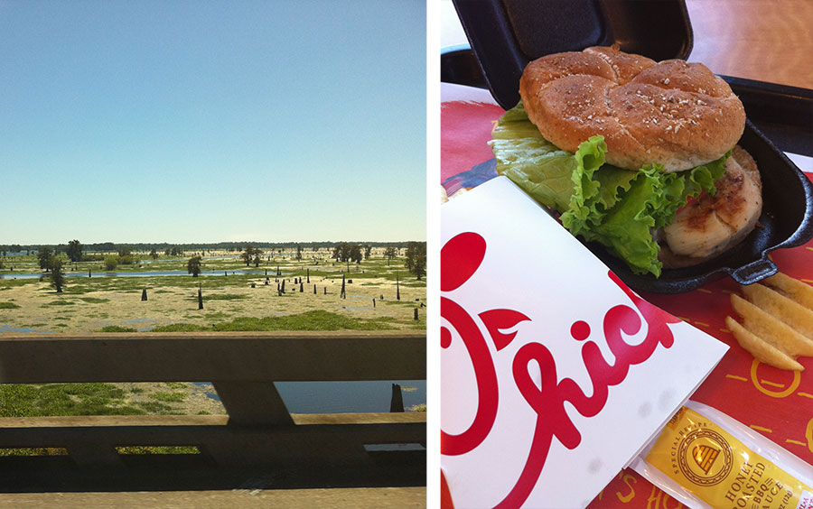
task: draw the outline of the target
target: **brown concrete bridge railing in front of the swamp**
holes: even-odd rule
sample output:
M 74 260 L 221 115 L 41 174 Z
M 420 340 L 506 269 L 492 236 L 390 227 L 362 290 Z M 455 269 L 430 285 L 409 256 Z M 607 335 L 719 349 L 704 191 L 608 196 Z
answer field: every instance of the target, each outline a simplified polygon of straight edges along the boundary
M 291 414 L 273 382 L 425 377 L 423 331 L 0 337 L 3 384 L 211 382 L 228 412 L 0 417 L 0 449 L 64 448 L 80 467 L 124 467 L 125 446 L 196 446 L 221 466 L 365 464 L 365 445 L 425 444 L 425 412 Z

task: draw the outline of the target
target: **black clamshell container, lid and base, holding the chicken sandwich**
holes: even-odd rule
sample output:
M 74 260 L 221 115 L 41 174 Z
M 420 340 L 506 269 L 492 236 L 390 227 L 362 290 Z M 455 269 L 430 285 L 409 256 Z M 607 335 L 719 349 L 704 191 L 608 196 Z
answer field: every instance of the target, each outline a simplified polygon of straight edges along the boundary
M 453 0 L 491 95 L 505 109 L 519 102 L 519 78 L 530 60 L 559 51 L 618 44 L 652 60 L 686 59 L 692 30 L 683 0 Z M 762 176 L 759 226 L 705 264 L 665 269 L 659 278 L 631 273 L 602 245 L 588 247 L 623 282 L 644 292 L 688 292 L 725 274 L 741 284 L 777 272 L 769 254 L 813 238 L 813 185 L 754 125 L 740 145 Z

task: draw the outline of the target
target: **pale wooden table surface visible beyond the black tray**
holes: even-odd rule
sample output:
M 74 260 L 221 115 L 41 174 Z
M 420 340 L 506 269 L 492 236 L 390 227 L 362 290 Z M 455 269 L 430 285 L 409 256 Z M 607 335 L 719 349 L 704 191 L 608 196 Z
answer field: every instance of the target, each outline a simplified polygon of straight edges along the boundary
M 813 88 L 813 0 L 686 0 L 688 60 L 717 74 Z M 441 46 L 465 43 L 451 0 L 440 3 Z

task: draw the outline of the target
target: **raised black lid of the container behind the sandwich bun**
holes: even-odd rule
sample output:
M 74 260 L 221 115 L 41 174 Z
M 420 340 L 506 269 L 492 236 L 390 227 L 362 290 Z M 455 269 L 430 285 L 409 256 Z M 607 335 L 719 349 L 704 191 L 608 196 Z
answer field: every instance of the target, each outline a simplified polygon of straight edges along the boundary
M 491 95 L 519 102 L 528 62 L 560 51 L 618 44 L 652 60 L 686 59 L 692 27 L 677 0 L 454 0 Z

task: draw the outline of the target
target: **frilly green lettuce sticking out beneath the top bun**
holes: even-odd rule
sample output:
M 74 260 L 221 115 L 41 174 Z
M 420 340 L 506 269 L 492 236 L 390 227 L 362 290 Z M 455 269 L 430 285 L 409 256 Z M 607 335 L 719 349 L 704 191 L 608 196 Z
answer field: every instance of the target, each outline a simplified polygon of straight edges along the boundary
M 687 171 L 664 173 L 658 164 L 623 170 L 605 162 L 603 136 L 592 136 L 576 153 L 559 150 L 528 120 L 521 102 L 500 118 L 491 147 L 497 172 L 556 209 L 571 233 L 607 246 L 634 273 L 655 276 L 661 264 L 652 230 L 668 225 L 689 197 L 714 194 L 730 155 Z

